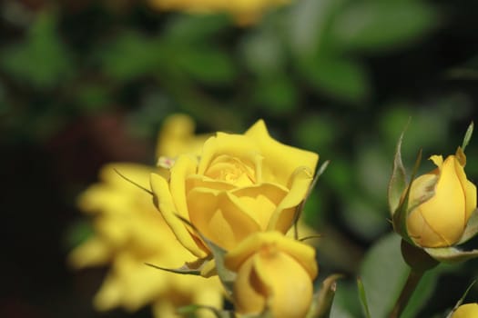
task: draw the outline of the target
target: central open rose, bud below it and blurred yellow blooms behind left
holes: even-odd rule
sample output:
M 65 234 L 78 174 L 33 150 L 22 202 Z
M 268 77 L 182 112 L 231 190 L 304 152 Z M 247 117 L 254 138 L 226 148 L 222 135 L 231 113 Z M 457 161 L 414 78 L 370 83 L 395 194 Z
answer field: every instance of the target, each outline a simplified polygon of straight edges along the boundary
M 158 167 L 107 164 L 101 182 L 80 196 L 96 232 L 69 261 L 77 268 L 111 266 L 96 307 L 135 311 L 151 304 L 157 317 L 174 317 L 179 306 L 191 303 L 220 309 L 212 242 L 226 251 L 220 262 L 236 275 L 236 313 L 304 317 L 318 274 L 315 250 L 286 234 L 319 156 L 280 144 L 262 121 L 245 134 L 193 132 L 188 117 L 169 118 L 158 138 Z M 145 263 L 214 277 L 158 271 Z M 213 312 L 203 307 L 198 314 Z

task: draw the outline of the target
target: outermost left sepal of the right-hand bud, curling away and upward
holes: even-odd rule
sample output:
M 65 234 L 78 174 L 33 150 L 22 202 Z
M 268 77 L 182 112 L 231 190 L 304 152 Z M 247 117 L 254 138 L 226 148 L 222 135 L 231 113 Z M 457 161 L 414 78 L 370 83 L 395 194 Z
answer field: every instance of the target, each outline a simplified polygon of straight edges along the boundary
M 398 210 L 400 202 L 402 200 L 402 194 L 407 186 L 406 182 L 406 172 L 405 167 L 402 162 L 402 141 L 403 134 L 405 134 L 405 129 L 403 129 L 402 134 L 400 135 L 399 141 L 395 148 L 395 157 L 393 158 L 393 167 L 392 167 L 392 176 L 390 178 L 390 183 L 388 187 L 388 199 L 389 199 L 389 209 L 390 213 L 395 214 Z

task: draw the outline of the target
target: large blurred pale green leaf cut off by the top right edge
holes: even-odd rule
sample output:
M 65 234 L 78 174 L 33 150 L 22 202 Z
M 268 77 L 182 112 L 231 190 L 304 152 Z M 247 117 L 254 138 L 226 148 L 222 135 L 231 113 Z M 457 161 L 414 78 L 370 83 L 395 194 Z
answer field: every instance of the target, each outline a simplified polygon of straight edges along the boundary
M 435 10 L 422 2 L 351 2 L 331 33 L 346 50 L 391 50 L 419 39 L 436 23 Z

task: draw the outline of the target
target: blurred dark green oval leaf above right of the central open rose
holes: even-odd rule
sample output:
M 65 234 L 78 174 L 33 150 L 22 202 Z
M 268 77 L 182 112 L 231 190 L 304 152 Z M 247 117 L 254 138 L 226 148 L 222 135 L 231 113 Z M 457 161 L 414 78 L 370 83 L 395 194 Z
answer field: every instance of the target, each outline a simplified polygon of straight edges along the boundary
M 371 94 L 367 71 L 349 59 L 313 56 L 301 60 L 300 71 L 311 85 L 339 100 L 358 103 Z

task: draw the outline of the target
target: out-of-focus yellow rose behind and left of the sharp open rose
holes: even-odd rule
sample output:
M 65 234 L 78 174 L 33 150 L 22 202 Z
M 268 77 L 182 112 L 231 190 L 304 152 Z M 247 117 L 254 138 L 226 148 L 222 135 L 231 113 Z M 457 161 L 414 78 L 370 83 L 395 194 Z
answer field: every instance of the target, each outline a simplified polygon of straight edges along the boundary
M 121 178 L 114 169 L 147 186 L 152 168 L 139 164 L 108 164 L 101 183 L 79 198 L 79 207 L 91 214 L 95 234 L 69 254 L 75 268 L 109 264 L 95 296 L 100 311 L 121 306 L 128 311 L 150 304 L 155 317 L 178 317 L 179 306 L 200 303 L 220 308 L 222 287 L 213 278 L 168 273 L 147 266 L 175 268 L 193 259 L 151 203 L 151 197 Z M 213 317 L 204 311 L 201 317 Z

